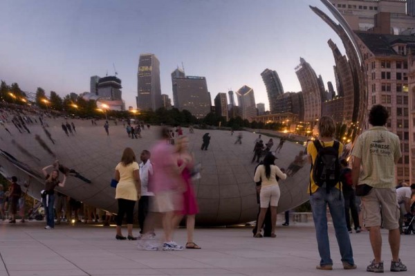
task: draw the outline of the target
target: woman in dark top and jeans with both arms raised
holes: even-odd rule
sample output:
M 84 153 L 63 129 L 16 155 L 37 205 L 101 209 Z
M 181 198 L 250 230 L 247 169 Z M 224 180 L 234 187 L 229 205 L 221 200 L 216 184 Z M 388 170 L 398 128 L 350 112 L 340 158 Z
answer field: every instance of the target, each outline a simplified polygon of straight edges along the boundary
M 59 181 L 59 171 L 53 169 L 48 174 L 47 169 L 54 167 L 48 165 L 42 169 L 42 172 L 46 178 L 45 190 L 42 192 L 42 202 L 45 208 L 46 226 L 45 229 L 53 229 L 55 227 L 55 213 L 53 212 L 53 204 L 55 203 L 55 187 L 64 187 L 66 181 L 66 175 L 64 174 L 64 180 Z

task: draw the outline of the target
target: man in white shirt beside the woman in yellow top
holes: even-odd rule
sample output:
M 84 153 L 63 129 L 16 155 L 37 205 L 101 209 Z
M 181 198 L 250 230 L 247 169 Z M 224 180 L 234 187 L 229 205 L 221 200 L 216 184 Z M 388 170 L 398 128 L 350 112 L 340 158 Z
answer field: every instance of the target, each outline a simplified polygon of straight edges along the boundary
M 138 201 L 138 223 L 140 223 L 140 234 L 144 232 L 145 218 L 149 212 L 149 197 L 154 196 L 148 191 L 149 177 L 153 174 L 153 165 L 150 161 L 150 151 L 143 150 L 140 155 L 140 180 L 141 180 L 141 197 Z

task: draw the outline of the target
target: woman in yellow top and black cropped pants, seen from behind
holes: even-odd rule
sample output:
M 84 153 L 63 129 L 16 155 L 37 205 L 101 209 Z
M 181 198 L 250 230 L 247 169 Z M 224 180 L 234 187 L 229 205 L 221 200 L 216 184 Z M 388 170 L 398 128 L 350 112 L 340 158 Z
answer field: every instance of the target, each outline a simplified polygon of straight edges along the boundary
M 131 148 L 125 148 L 114 175 L 114 178 L 118 181 L 116 188 L 116 199 L 118 201 L 116 239 L 129 239 L 133 241 L 137 239 L 133 236 L 133 211 L 134 205 L 140 199 L 141 194 L 141 181 L 138 168 L 136 154 L 134 154 Z M 127 214 L 127 237 L 122 236 L 121 233 L 124 214 Z

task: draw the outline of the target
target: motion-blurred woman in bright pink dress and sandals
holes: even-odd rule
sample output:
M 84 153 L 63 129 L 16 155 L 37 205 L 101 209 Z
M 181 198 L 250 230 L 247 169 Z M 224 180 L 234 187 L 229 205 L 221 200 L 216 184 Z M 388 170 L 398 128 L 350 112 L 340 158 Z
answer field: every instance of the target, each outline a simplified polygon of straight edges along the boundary
M 193 241 L 194 232 L 194 218 L 199 212 L 197 208 L 196 196 L 194 194 L 192 183 L 192 168 L 194 167 L 194 158 L 188 151 L 189 139 L 186 136 L 181 136 L 177 140 L 177 165 L 181 170 L 181 179 L 184 182 L 185 191 L 183 192 L 183 210 L 181 214 L 176 216 L 176 223 L 178 224 L 183 216 L 186 217 L 186 230 L 187 230 L 187 243 L 186 248 L 189 249 L 201 249 Z M 176 225 L 177 225 L 176 224 Z

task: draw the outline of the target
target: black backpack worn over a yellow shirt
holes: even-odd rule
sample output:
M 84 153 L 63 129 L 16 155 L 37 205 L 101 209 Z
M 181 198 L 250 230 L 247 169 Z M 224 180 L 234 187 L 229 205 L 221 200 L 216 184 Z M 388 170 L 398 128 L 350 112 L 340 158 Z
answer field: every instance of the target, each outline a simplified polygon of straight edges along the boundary
M 340 181 L 340 142 L 334 141 L 332 147 L 323 147 L 319 140 L 314 140 L 313 143 L 317 149 L 317 157 L 312 166 L 313 181 L 318 187 L 326 184 L 326 191 L 329 193 L 331 187 L 335 187 Z

